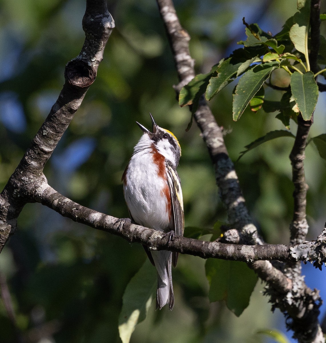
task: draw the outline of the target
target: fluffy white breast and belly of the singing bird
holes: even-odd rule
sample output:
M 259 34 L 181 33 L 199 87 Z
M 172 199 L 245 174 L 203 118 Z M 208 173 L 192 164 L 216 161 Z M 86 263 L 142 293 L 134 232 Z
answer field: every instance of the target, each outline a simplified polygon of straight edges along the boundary
M 137 224 L 167 231 L 170 220 L 163 189 L 166 181 L 157 176 L 151 149 L 134 153 L 128 165 L 123 192 L 131 216 Z

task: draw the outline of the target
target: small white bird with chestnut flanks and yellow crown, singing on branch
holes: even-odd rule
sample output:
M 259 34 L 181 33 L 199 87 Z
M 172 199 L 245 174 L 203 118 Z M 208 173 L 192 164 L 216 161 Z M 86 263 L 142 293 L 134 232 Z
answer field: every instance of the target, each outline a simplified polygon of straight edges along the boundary
M 133 222 L 169 235 L 183 235 L 184 215 L 177 166 L 181 147 L 176 136 L 156 125 L 151 114 L 152 131 L 136 122 L 144 132 L 122 175 L 123 193 Z M 156 308 L 174 305 L 171 265 L 178 253 L 149 250 L 149 260 L 157 269 Z

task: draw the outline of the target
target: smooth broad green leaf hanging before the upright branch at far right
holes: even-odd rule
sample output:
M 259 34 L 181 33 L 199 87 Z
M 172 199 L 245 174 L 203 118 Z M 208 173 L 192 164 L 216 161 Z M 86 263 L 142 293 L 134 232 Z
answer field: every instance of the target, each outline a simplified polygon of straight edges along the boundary
M 291 75 L 291 91 L 304 120 L 309 120 L 318 100 L 318 86 L 311 71 Z

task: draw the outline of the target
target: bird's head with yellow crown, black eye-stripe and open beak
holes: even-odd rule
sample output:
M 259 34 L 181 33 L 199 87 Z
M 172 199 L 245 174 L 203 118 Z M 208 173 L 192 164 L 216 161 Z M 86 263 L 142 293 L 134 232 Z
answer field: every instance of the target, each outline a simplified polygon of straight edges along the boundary
M 141 130 L 144 132 L 141 140 L 148 142 L 150 147 L 156 149 L 158 153 L 168 159 L 174 166 L 179 164 L 181 156 L 181 147 L 177 140 L 177 137 L 169 130 L 160 128 L 151 114 L 152 119 L 152 131 L 150 132 L 142 124 L 138 124 Z

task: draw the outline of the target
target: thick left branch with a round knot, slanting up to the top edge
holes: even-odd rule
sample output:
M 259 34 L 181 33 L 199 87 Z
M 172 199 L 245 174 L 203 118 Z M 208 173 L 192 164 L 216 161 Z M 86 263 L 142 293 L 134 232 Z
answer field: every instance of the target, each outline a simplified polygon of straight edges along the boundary
M 65 83 L 50 114 L 10 177 L 0 196 L 0 251 L 17 226 L 23 206 L 46 181 L 43 168 L 96 77 L 114 21 L 105 0 L 87 0 L 83 17 L 85 42 L 76 58 L 67 63 Z

